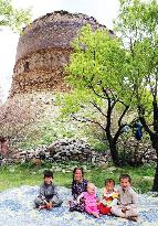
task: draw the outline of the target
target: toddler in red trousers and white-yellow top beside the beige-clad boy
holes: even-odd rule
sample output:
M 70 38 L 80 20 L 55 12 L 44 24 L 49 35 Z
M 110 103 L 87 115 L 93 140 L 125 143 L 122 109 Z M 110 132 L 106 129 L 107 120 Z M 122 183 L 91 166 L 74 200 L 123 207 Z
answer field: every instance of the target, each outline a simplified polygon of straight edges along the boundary
M 103 190 L 103 198 L 98 205 L 101 214 L 110 215 L 110 208 L 116 205 L 118 201 L 118 192 L 115 189 L 115 181 L 107 179 L 105 181 L 105 187 Z

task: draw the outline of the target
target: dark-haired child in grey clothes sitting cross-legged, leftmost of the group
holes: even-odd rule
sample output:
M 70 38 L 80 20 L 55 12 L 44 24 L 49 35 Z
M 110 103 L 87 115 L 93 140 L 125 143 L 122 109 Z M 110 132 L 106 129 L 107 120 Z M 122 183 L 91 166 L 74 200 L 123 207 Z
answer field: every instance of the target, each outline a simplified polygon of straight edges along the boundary
M 61 206 L 63 203 L 59 198 L 56 187 L 52 183 L 53 173 L 51 171 L 44 171 L 44 183 L 40 186 L 40 194 L 34 200 L 35 206 L 39 209 L 46 208 L 52 209 L 53 207 Z

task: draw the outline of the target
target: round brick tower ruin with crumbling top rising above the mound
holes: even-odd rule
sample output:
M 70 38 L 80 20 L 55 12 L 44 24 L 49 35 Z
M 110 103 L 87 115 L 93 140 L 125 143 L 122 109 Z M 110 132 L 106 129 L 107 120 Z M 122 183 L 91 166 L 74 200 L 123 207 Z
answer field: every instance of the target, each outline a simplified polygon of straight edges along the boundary
M 10 96 L 15 94 L 67 90 L 63 67 L 72 53 L 71 42 L 85 24 L 104 28 L 94 18 L 55 11 L 27 26 L 19 39 Z

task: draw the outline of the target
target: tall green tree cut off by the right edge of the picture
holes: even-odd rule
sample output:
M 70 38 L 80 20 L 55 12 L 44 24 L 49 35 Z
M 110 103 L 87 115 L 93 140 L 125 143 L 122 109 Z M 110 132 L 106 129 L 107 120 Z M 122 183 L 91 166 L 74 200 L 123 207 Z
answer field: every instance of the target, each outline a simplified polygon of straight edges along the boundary
M 116 29 L 127 51 L 126 83 L 134 90 L 139 120 L 157 153 L 154 191 L 158 191 L 158 2 L 120 0 Z

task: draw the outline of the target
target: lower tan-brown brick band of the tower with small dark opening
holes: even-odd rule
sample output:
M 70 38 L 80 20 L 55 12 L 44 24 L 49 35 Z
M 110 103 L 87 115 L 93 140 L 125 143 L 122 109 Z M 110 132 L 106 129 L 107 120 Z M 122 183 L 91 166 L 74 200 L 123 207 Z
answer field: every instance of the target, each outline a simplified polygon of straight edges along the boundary
M 67 64 L 71 51 L 41 50 L 20 58 L 14 67 L 12 96 L 32 90 L 66 92 L 63 66 Z

